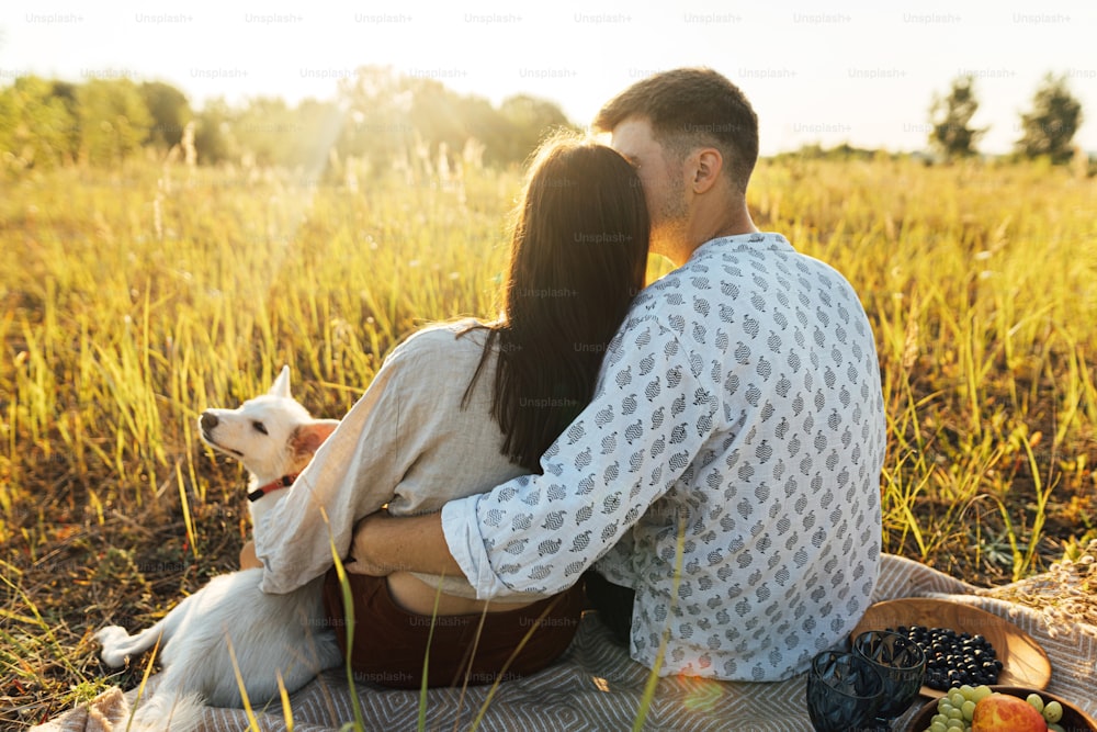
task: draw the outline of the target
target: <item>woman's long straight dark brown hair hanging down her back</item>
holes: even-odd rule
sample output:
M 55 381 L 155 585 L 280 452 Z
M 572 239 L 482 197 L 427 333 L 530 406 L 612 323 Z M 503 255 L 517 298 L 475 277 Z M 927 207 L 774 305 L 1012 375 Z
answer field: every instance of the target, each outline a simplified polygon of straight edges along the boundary
M 648 217 L 633 167 L 615 150 L 556 136 L 530 168 L 511 243 L 491 414 L 502 451 L 541 472 L 541 454 L 593 396 L 606 346 L 644 286 Z

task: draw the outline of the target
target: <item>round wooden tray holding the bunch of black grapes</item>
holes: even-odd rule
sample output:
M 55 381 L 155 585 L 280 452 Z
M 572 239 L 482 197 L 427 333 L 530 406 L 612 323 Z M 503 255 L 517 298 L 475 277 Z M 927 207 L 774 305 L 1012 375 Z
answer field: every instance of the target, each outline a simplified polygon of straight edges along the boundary
M 887 600 L 871 606 L 857 623 L 850 640 L 867 630 L 884 630 L 900 626 L 925 626 L 926 628 L 951 628 L 958 633 L 964 631 L 982 635 L 1002 661 L 998 684 L 1018 686 L 1033 690 L 1047 688 L 1051 680 L 1051 662 L 1048 654 L 1031 635 L 1005 618 L 981 610 L 970 605 L 929 598 L 907 598 Z M 943 690 L 921 687 L 921 696 L 939 698 Z

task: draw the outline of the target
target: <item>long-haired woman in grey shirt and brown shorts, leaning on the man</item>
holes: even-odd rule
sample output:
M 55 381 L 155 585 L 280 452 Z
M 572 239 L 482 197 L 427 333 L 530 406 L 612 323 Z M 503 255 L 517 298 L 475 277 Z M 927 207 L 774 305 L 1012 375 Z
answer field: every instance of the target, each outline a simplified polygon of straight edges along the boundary
M 542 146 L 511 243 L 501 317 L 416 333 L 264 521 L 263 589 L 328 572 L 329 621 L 346 651 L 332 547 L 387 505 L 434 511 L 450 498 L 540 472 L 539 459 L 593 395 L 606 345 L 644 284 L 648 217 L 635 170 L 575 137 Z M 323 510 L 320 510 L 323 507 Z M 476 600 L 464 577 L 349 575 L 360 677 L 417 688 L 491 683 L 539 671 L 566 650 L 577 588 Z M 520 650 L 517 650 L 520 649 Z

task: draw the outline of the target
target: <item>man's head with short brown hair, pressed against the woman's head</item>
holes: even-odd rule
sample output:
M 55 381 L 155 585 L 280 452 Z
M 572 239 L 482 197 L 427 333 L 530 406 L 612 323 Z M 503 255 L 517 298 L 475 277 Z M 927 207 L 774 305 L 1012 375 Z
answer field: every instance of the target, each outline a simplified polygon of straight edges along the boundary
M 754 230 L 746 189 L 758 159 L 758 117 L 711 69 L 665 71 L 634 83 L 595 117 L 638 168 L 652 249 L 688 257 L 713 236 Z

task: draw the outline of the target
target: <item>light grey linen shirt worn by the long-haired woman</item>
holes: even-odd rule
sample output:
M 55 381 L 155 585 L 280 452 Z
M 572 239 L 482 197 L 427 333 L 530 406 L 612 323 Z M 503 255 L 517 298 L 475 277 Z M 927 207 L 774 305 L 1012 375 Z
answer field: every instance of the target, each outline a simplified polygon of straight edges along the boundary
M 491 417 L 496 358 L 461 405 L 487 339 L 483 328 L 457 337 L 472 323 L 426 328 L 395 348 L 286 495 L 259 519 L 263 592 L 287 593 L 327 572 L 332 542 L 344 558 L 354 522 L 385 504 L 394 516 L 437 511 L 450 498 L 527 472 L 502 454 L 504 435 Z M 432 587 L 441 579 L 418 576 Z M 446 594 L 475 597 L 464 577 L 441 585 Z

